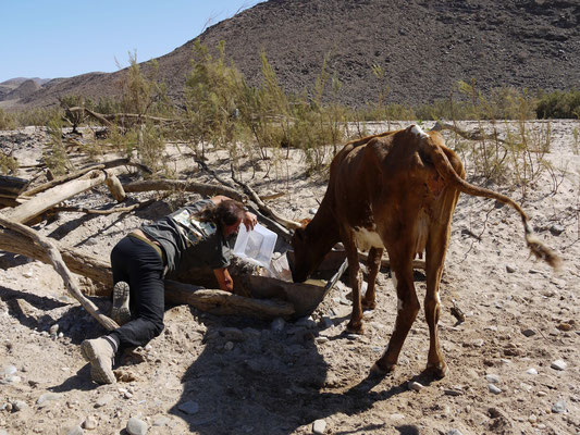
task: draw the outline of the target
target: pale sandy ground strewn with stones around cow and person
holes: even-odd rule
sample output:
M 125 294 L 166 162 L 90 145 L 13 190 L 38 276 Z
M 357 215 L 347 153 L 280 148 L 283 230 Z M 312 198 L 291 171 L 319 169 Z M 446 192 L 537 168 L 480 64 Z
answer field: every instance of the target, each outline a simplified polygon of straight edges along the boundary
M 394 373 L 367 378 L 396 313 L 388 270 L 382 270 L 378 308 L 366 313 L 362 336 L 344 334 L 350 302 L 343 284 L 311 318 L 296 322 L 168 307 L 164 332 L 140 350 L 140 362 L 124 365 L 135 378 L 98 386 L 78 345 L 103 334 L 102 327 L 66 295 L 51 266 L 0 252 L 0 434 L 126 434 L 131 418 L 146 423 L 149 434 L 579 434 L 580 157 L 572 134 L 579 124 L 551 127 L 554 177 L 544 173 L 523 200 L 520 190 L 496 189 L 521 201 L 564 268 L 553 273 L 529 258 L 510 209 L 461 196 L 442 279 L 440 331 L 451 369 L 445 378 L 422 375 L 429 346 L 422 312 Z M 45 140 L 35 128 L 0 132 L 0 146 L 13 147 L 21 164 L 37 162 Z M 187 153 L 172 152 L 168 160 L 211 181 Z M 210 153 L 210 164 L 227 176 L 224 154 Z M 322 174 L 305 176 L 298 152 L 284 154 L 266 178 L 267 165 L 260 166 L 254 177 L 244 166 L 244 181 L 259 194 L 286 191 L 270 203 L 280 213 L 311 216 L 325 190 Z M 184 195 L 108 216 L 61 213 L 35 229 L 108 260 L 131 229 L 195 199 Z M 96 208 L 112 199 L 97 188 L 70 202 Z M 420 271 L 416 286 L 422 300 Z M 453 300 L 466 313 L 464 323 L 449 312 Z M 411 382 L 421 385 L 411 388 Z

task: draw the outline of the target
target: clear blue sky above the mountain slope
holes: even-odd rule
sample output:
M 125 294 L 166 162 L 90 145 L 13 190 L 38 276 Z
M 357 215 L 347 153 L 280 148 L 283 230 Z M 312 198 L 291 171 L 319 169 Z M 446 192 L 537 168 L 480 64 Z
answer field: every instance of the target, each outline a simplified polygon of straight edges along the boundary
M 118 71 L 166 54 L 260 0 L 0 0 L 0 83 Z

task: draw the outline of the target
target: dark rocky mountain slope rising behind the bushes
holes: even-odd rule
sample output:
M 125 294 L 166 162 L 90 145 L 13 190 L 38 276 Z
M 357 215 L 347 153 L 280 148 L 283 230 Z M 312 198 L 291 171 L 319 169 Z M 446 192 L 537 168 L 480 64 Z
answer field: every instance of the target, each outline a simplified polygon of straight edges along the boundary
M 448 97 L 459 79 L 476 79 L 483 91 L 580 84 L 578 0 L 270 0 L 200 38 L 210 48 L 224 40 L 227 58 L 252 84 L 260 82 L 264 51 L 288 91 L 311 87 L 326 59 L 328 72 L 343 84 L 340 99 L 349 105 L 377 99 L 372 65 L 386 73 L 388 100 L 411 104 Z M 176 100 L 183 98 L 193 44 L 158 59 Z M 114 95 L 120 74 L 51 80 L 20 103 Z

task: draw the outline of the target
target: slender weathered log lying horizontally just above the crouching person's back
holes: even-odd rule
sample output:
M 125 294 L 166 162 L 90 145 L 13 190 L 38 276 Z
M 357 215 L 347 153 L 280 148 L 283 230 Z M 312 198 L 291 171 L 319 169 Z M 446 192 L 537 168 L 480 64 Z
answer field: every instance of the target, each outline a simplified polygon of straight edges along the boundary
M 151 190 L 180 190 L 194 191 L 205 196 L 224 195 L 237 201 L 245 201 L 246 197 L 231 187 L 218 186 L 207 183 L 198 183 L 183 179 L 146 179 L 124 184 L 126 192 L 151 191 Z

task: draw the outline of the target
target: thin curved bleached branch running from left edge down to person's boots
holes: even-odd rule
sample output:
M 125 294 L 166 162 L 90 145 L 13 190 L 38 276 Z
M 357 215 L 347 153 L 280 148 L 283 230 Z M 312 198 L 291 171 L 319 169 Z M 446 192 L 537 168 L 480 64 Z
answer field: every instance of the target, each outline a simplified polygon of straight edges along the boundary
M 99 308 L 88 300 L 83 293 L 81 291 L 76 278 L 71 274 L 69 268 L 64 263 L 62 256 L 59 249 L 47 237 L 36 233 L 34 229 L 28 228 L 27 226 L 20 224 L 17 222 L 12 222 L 8 219 L 0 217 L 0 225 L 5 228 L 12 229 L 16 233 L 20 233 L 32 240 L 34 240 L 41 249 L 45 251 L 46 256 L 50 259 L 50 263 L 54 266 L 54 270 L 61 275 L 64 281 L 64 285 L 69 289 L 69 293 L 83 306 L 85 310 L 92 315 L 97 322 L 104 326 L 108 331 L 112 331 L 119 327 L 119 325 L 107 315 L 104 315 Z

